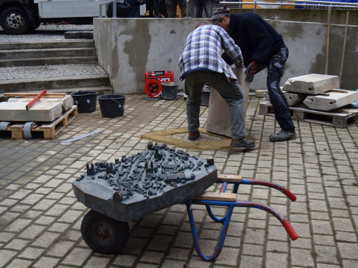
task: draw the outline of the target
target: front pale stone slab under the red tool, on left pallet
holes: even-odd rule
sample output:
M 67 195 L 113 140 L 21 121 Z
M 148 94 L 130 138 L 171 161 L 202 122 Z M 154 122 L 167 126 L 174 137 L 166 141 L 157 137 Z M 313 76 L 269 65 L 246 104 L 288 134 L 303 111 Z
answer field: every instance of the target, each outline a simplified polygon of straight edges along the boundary
M 0 103 L 0 121 L 51 122 L 62 113 L 61 103 L 37 102 L 29 110 L 27 103 Z

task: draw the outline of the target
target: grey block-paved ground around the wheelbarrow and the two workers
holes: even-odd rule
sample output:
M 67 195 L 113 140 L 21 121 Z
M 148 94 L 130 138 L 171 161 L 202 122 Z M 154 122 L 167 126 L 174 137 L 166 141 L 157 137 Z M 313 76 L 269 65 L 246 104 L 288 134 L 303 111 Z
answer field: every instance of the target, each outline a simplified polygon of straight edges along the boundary
M 71 186 L 86 162 L 136 154 L 147 146 L 141 134 L 187 126 L 182 97 L 144 97 L 128 95 L 123 117 L 103 118 L 98 106 L 80 113 L 53 140 L 0 137 L 0 267 L 358 267 L 358 124 L 340 129 L 294 121 L 298 138 L 272 143 L 269 134 L 279 127 L 273 117 L 259 114 L 258 102 L 249 103 L 246 117 L 247 136 L 256 142 L 253 150 L 182 150 L 214 157 L 219 173 L 289 188 L 296 202 L 277 190 L 251 186 L 240 186 L 237 199 L 268 204 L 284 214 L 298 240 L 290 241 L 270 214 L 236 208 L 220 256 L 204 262 L 193 247 L 185 207 L 175 205 L 130 222 L 122 254 L 90 250 L 80 232 L 88 209 Z M 201 127 L 207 114 L 202 107 Z M 61 143 L 96 130 L 101 133 Z M 222 224 L 214 223 L 202 206 L 193 211 L 202 250 L 211 255 Z M 222 216 L 225 210 L 213 212 Z

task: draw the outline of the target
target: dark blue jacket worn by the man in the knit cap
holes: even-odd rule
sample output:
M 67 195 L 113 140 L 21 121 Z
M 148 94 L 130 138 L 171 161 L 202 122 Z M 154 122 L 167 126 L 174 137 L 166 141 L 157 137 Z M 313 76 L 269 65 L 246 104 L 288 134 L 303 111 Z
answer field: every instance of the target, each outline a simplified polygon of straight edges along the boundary
M 259 15 L 251 12 L 231 14 L 229 34 L 241 49 L 246 67 L 253 60 L 257 64 L 268 65 L 271 56 L 285 47 L 282 35 Z M 223 57 L 226 61 L 226 57 Z

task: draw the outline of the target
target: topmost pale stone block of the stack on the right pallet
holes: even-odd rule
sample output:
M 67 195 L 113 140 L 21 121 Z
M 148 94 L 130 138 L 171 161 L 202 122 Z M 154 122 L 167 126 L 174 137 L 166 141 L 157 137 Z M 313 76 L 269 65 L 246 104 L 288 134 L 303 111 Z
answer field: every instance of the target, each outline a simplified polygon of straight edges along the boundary
M 310 74 L 288 79 L 283 86 L 283 90 L 293 93 L 317 95 L 338 87 L 338 76 Z

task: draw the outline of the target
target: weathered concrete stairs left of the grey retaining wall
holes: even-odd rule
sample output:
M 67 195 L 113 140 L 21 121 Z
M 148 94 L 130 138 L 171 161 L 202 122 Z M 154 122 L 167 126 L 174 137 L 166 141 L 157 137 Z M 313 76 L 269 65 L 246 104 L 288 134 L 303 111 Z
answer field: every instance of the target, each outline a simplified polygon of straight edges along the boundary
M 93 40 L 0 43 L 0 101 L 4 93 L 113 93 L 98 65 Z

